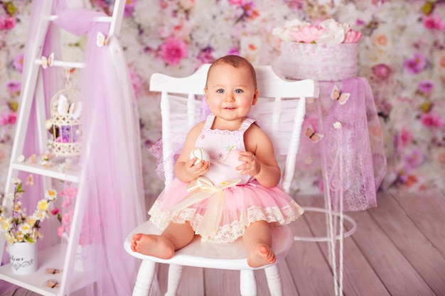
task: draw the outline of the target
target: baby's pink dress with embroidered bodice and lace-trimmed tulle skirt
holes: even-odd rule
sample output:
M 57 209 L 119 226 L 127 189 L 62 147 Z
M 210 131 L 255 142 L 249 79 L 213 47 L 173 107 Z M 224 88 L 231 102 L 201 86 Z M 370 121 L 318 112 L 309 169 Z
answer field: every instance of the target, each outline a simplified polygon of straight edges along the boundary
M 211 129 L 214 120 L 213 114 L 207 117 L 195 143 L 210 155 L 208 172 L 190 183 L 174 179 L 151 207 L 150 221 L 160 229 L 189 221 L 203 241 L 227 243 L 254 221 L 284 225 L 301 216 L 304 210 L 282 189 L 263 187 L 235 170 L 238 150 L 245 150 L 244 133 L 255 119 L 245 119 L 237 131 Z

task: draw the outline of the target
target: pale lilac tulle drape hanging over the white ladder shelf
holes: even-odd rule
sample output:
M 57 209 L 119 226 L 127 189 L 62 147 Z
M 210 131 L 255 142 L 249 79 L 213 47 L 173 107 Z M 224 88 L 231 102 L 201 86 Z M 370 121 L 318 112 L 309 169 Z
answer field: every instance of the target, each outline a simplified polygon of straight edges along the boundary
M 55 53 L 60 60 L 58 27 L 76 35 L 88 35 L 85 68 L 82 70 L 82 168 L 78 198 L 85 202 L 82 221 L 83 276 L 94 284 L 70 295 L 131 295 L 140 261 L 125 253 L 123 242 L 127 234 L 146 220 L 141 170 L 139 116 L 127 62 L 119 40 L 109 36 L 107 46 L 97 47 L 97 32 L 107 35 L 109 23 L 93 21 L 104 13 L 84 9 L 66 9 L 65 1 L 55 1 L 48 7 L 44 1 L 34 1 L 30 31 L 26 42 L 22 89 L 26 73 L 36 57 L 38 40 L 45 42 L 42 55 Z M 58 18 L 42 29 L 43 17 L 55 14 Z M 60 68 L 43 71 L 45 104 L 63 87 Z M 26 156 L 36 153 L 38 143 L 35 107 L 31 109 L 26 136 Z M 47 118 L 49 111 L 47 109 Z M 36 180 L 36 185 L 38 185 Z M 43 196 L 43 189 L 34 186 L 29 204 Z M 32 206 L 34 207 L 34 206 Z M 56 231 L 45 232 L 39 248 L 51 246 L 58 239 Z M 53 237 L 53 239 L 51 239 Z M 0 282 L 1 290 L 11 289 Z M 43 283 L 42 283 L 43 285 Z

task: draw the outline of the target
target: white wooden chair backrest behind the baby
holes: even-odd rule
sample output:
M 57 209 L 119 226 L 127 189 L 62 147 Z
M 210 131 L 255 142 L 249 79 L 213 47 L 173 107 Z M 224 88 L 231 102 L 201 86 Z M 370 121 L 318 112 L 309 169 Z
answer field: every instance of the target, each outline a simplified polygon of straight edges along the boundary
M 210 64 L 188 77 L 155 73 L 150 90 L 161 92 L 163 171 L 166 185 L 173 180 L 173 155 L 178 153 L 188 130 L 205 119 L 203 94 Z M 283 171 L 282 187 L 289 192 L 294 177 L 296 153 L 305 115 L 306 97 L 318 97 L 313 80 L 290 81 L 278 77 L 271 66 L 256 66 L 259 100 L 250 115 L 274 143 L 275 156 Z

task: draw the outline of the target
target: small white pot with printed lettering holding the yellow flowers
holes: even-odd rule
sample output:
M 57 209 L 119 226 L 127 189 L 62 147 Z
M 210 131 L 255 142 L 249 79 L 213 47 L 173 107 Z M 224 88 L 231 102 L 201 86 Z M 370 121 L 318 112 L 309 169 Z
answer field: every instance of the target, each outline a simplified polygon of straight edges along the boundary
M 37 270 L 37 244 L 13 243 L 8 246 L 12 273 L 29 275 Z

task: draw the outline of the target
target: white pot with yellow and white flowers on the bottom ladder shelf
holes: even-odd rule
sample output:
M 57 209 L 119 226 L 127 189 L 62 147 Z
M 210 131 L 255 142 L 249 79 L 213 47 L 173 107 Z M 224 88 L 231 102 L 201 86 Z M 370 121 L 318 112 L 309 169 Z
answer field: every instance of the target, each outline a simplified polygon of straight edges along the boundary
M 38 201 L 36 210 L 28 216 L 20 200 L 25 192 L 23 184 L 18 179 L 13 183 L 14 192 L 4 196 L 0 207 L 0 231 L 8 243 L 12 273 L 27 275 L 37 270 L 36 242 L 43 238 L 41 222 L 50 216 L 50 203 L 57 198 L 57 192 L 47 190 L 44 198 Z

